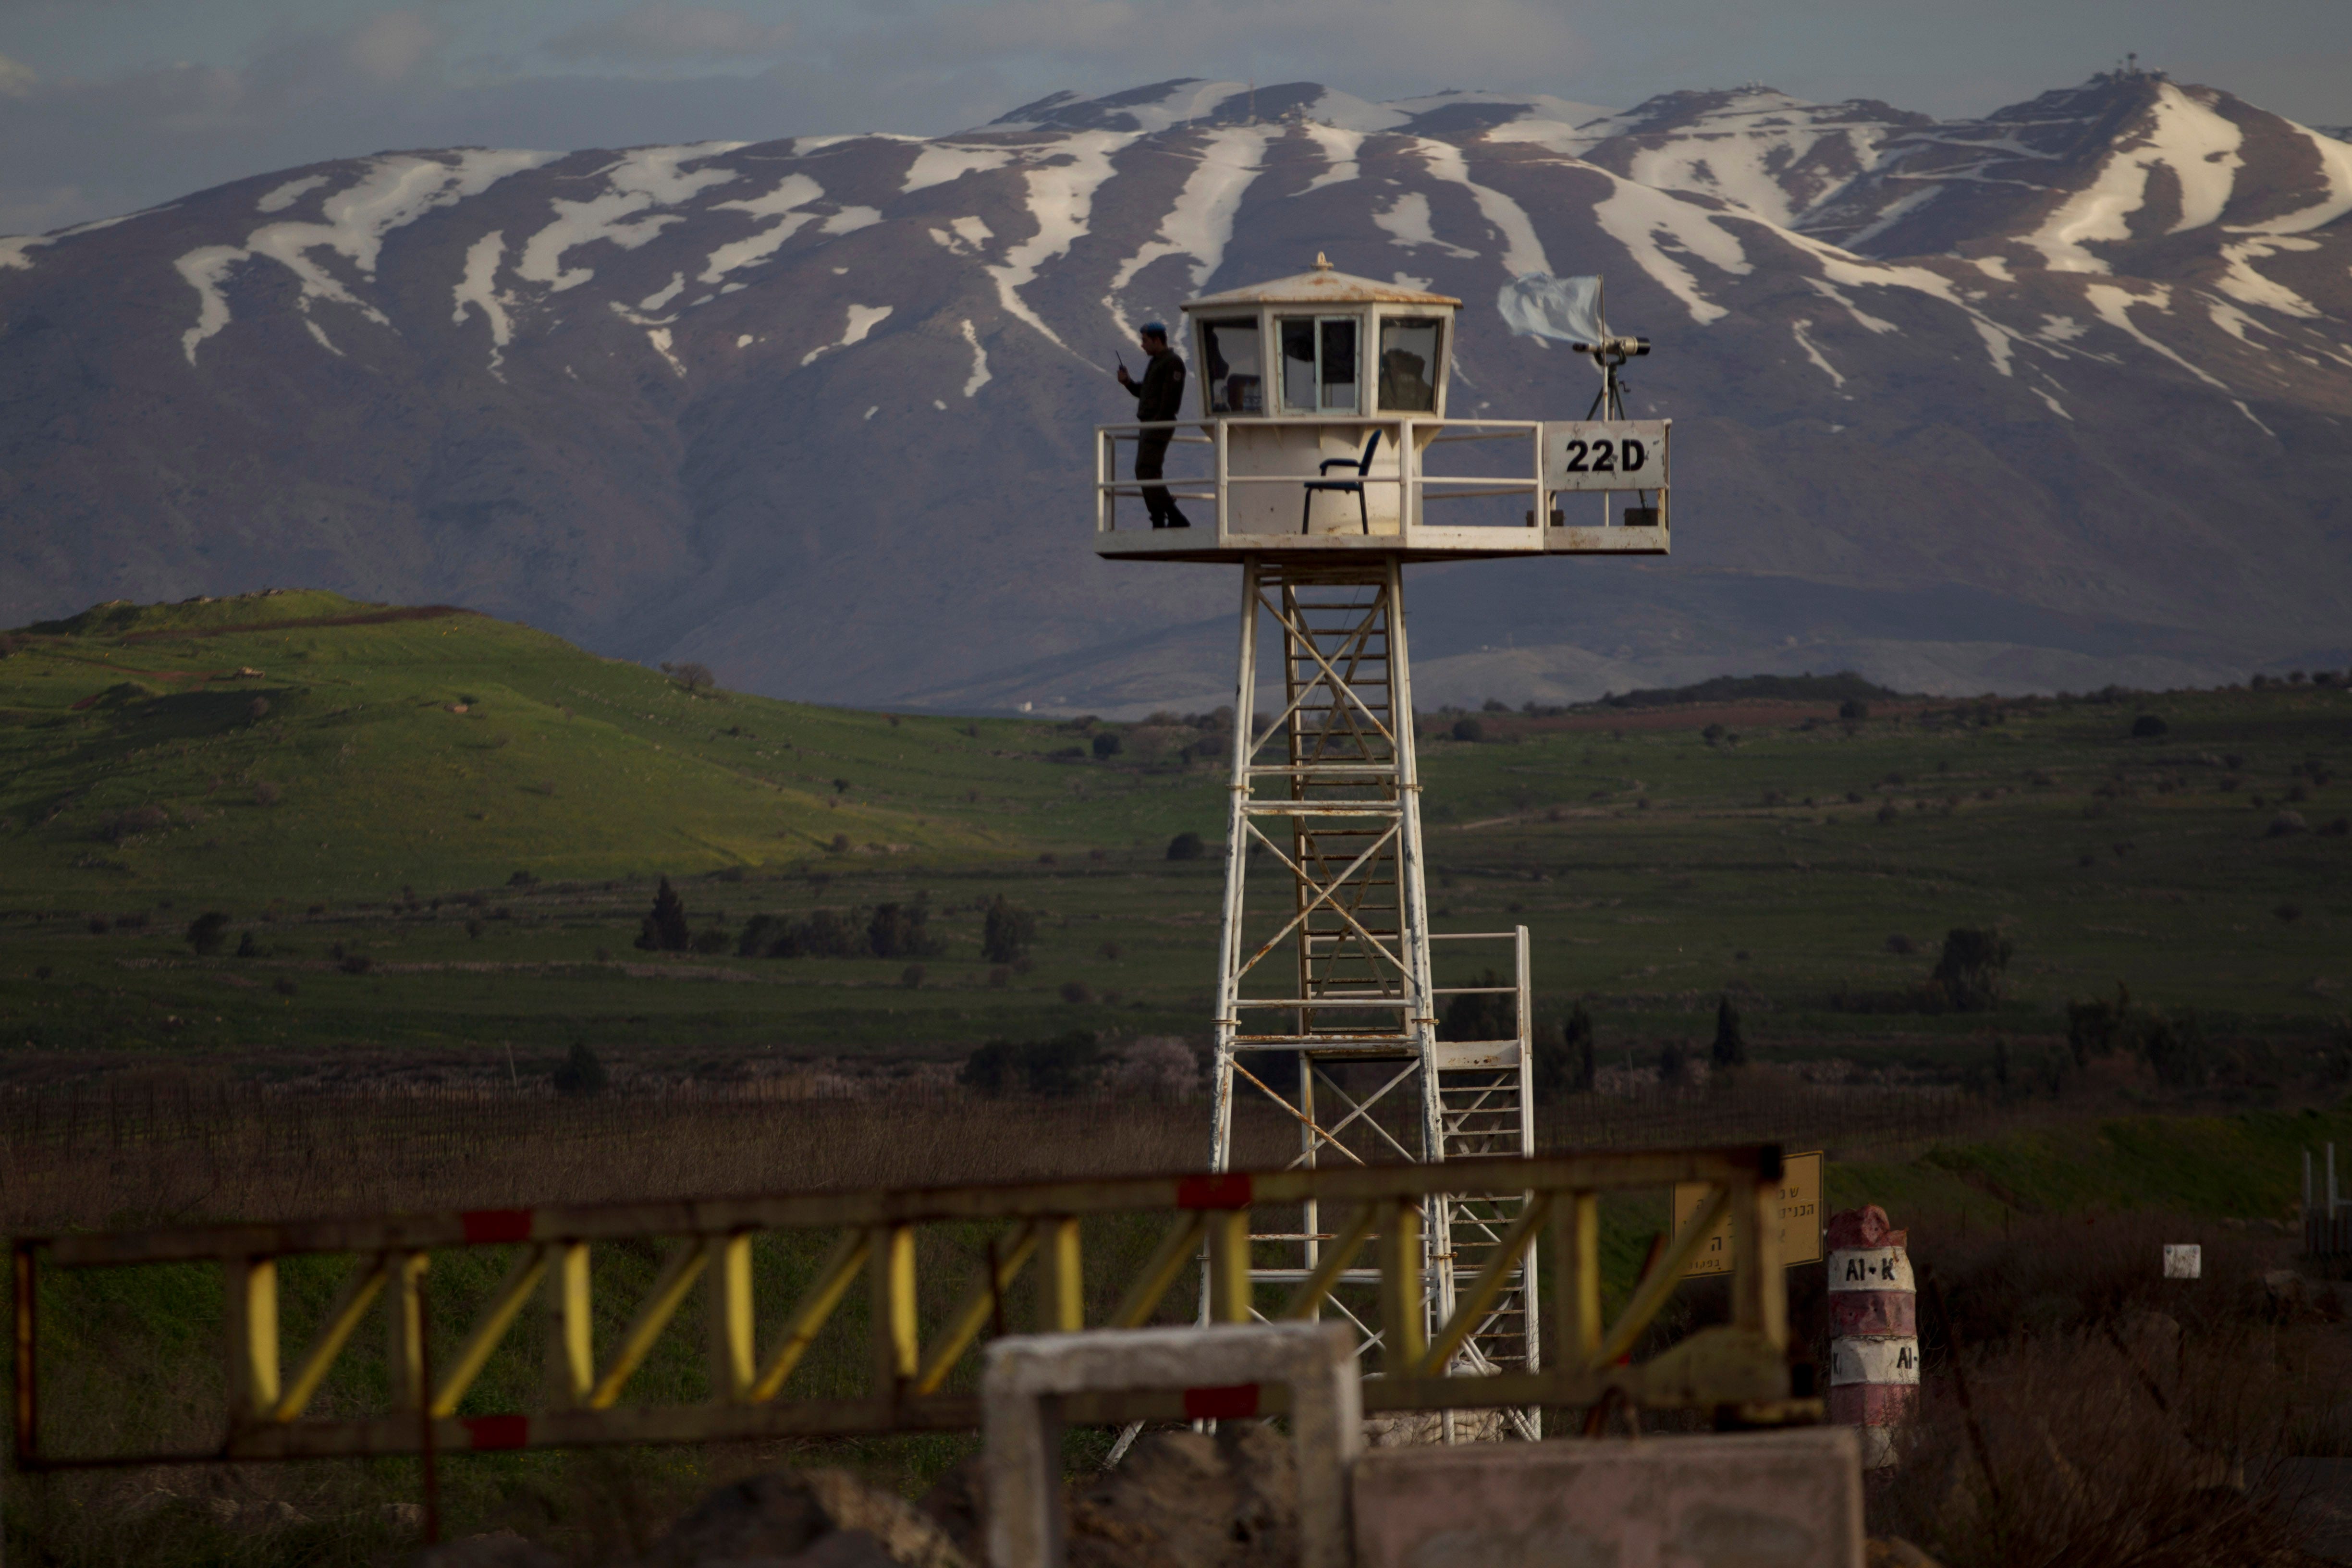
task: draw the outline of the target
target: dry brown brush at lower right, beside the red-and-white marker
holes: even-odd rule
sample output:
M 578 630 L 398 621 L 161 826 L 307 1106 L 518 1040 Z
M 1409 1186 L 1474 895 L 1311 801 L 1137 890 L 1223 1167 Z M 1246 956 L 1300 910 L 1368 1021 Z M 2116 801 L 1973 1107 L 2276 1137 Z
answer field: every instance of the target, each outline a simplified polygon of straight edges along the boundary
M 2161 1279 L 2199 1232 L 2204 1279 Z M 1922 1420 L 1872 1533 L 1947 1568 L 2307 1561 L 2286 1460 L 2328 1441 L 2352 1356 L 2333 1295 L 2265 1286 L 2281 1246 L 2164 1215 L 1931 1246 Z

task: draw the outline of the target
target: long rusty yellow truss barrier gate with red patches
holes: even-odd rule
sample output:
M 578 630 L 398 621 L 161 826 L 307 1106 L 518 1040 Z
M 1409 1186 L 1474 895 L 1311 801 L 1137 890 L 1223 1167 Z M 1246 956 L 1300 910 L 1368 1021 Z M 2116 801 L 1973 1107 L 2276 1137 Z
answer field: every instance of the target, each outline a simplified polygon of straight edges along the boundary
M 1472 1178 L 1482 1192 L 1526 1192 L 1486 1269 L 1470 1281 L 1435 1335 L 1423 1279 L 1423 1206 Z M 1367 1410 L 1583 1406 L 1616 1389 L 1644 1406 L 1745 1406 L 1752 1418 L 1809 1408 L 1788 1399 L 1785 1298 L 1773 1227 L 1780 1152 L 1773 1145 L 1477 1159 L 1423 1166 L 1112 1178 L 995 1187 L 927 1187 L 572 1208 L 492 1208 L 381 1220 L 207 1225 L 115 1234 L 19 1237 L 14 1246 L 16 1465 L 80 1469 L 205 1460 L 294 1460 L 433 1450 L 557 1448 L 593 1443 L 689 1443 L 818 1434 L 978 1427 L 978 1399 L 943 1392 L 993 1321 L 1007 1286 L 1042 1267 L 1040 1328 L 1084 1321 L 1080 1220 L 1174 1211 L 1160 1246 L 1127 1281 L 1103 1328 L 1148 1324 L 1162 1298 L 1207 1251 L 1209 1314 L 1315 1316 L 1334 1281 L 1374 1246 L 1381 1272 L 1381 1373 L 1364 1382 Z M 1710 1199 L 1682 1239 L 1658 1251 L 1630 1300 L 1604 1321 L 1599 1291 L 1599 1194 L 1705 1182 Z M 1254 1279 L 1254 1204 L 1319 1204 L 1338 1215 L 1319 1267 L 1263 1309 Z M 1646 1363 L 1630 1363 L 1644 1328 L 1672 1295 L 1689 1253 L 1731 1215 L 1733 1321 L 1705 1328 Z M 915 1227 L 1002 1222 L 978 1279 L 924 1333 L 917 1309 Z M 1541 1373 L 1449 1375 L 1456 1352 L 1503 1291 L 1536 1232 L 1552 1232 L 1557 1345 Z M 814 1284 L 757 1345 L 750 1239 L 779 1229 L 837 1229 Z M 590 1246 L 675 1237 L 635 1319 L 602 1359 L 593 1345 Z M 426 1342 L 430 1253 L 520 1248 L 456 1352 L 435 1363 Z M 308 1349 L 287 1373 L 280 1356 L 278 1262 L 306 1253 L 358 1253 Z M 52 1455 L 40 1434 L 42 1269 L 219 1262 L 226 1288 L 228 1420 L 221 1441 L 172 1453 Z M 623 1406 L 630 1378 L 673 1326 L 691 1286 L 708 1274 L 706 1354 L 717 1396 L 699 1403 Z M 866 1274 L 873 1316 L 873 1382 L 863 1399 L 790 1399 L 795 1366 Z M 541 1295 L 546 1394 L 539 1410 L 461 1415 L 501 1340 Z M 306 1415 L 362 1319 L 383 1298 L 390 1408 L 383 1415 Z M 1247 1406 L 1247 1408 L 1242 1408 Z M 1094 1394 L 1068 1401 L 1073 1422 L 1275 1415 L 1282 1389 L 1188 1389 Z

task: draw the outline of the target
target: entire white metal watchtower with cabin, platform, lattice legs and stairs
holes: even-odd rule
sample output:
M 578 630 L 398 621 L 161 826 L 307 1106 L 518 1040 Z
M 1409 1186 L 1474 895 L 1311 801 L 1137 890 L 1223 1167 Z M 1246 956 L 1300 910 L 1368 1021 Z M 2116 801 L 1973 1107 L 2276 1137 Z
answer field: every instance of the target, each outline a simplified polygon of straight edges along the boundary
M 1606 336 L 1597 282 L 1588 282 L 1595 310 L 1581 336 L 1592 343 L 1576 348 L 1613 371 L 1639 353 L 1637 341 Z M 1526 926 L 1430 931 L 1404 564 L 1663 555 L 1668 423 L 1446 418 L 1458 308 L 1444 294 L 1336 273 L 1317 256 L 1310 273 L 1183 306 L 1197 418 L 1096 430 L 1096 552 L 1242 567 L 1214 1168 L 1232 1154 L 1237 1081 L 1296 1121 L 1301 1166 L 1534 1145 Z M 1613 381 L 1604 388 L 1599 411 L 1616 414 Z M 1190 503 L 1192 527 L 1145 527 L 1143 484 L 1122 477 L 1122 447 L 1145 433 L 1171 442 L 1178 461 L 1162 484 Z M 1569 527 L 1559 510 L 1569 491 L 1599 491 L 1597 515 Z M 1261 661 L 1261 646 L 1279 649 L 1279 665 Z M 1263 717 L 1261 679 L 1272 710 Z M 1472 964 L 1484 945 L 1494 978 L 1437 983 L 1432 943 Z M 1508 947 L 1508 964 L 1496 945 Z M 1439 1041 L 1454 997 L 1489 994 L 1508 1001 L 1456 1013 L 1496 1039 Z M 1428 1345 L 1519 1206 L 1519 1194 L 1468 1190 L 1423 1215 L 1421 1316 L 1430 1328 L 1416 1356 L 1536 1371 L 1534 1253 L 1468 1338 Z M 1348 1218 L 1310 1206 L 1289 1229 L 1258 1234 L 1261 1255 L 1282 1248 L 1289 1265 L 1258 1279 L 1317 1274 L 1327 1241 L 1348 1253 L 1362 1246 L 1362 1232 L 1327 1232 L 1327 1222 Z M 1367 1293 L 1378 1272 L 1350 1262 L 1334 1258 L 1343 1272 L 1329 1300 L 1371 1335 L 1381 1314 Z M 1406 1361 L 1383 1347 L 1390 1368 Z M 1512 1413 L 1524 1436 L 1538 1436 L 1534 1418 Z

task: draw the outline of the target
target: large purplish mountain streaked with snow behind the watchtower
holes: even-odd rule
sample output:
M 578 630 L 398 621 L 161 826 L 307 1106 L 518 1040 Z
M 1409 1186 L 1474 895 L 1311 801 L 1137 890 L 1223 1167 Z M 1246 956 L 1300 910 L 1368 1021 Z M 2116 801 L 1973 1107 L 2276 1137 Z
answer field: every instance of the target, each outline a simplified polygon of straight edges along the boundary
M 426 150 L 0 240 L 0 618 L 310 583 L 734 684 L 1214 701 L 1228 571 L 1089 550 L 1134 322 L 1301 270 L 1602 273 L 1675 557 L 1416 576 L 1428 701 L 1856 665 L 1947 691 L 2345 663 L 2352 146 L 2114 73 L 1985 120 L 1319 85 L 955 136 Z

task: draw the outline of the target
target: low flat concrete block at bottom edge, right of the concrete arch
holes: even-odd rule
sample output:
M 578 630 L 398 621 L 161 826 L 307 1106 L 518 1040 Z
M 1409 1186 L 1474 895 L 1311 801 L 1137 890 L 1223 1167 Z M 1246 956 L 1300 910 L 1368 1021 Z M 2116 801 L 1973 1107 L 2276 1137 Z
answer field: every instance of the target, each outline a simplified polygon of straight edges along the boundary
M 1860 1568 L 1844 1427 L 1381 1448 L 1355 1465 L 1357 1568 Z

